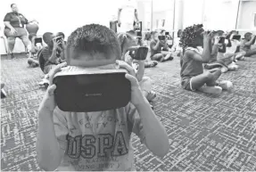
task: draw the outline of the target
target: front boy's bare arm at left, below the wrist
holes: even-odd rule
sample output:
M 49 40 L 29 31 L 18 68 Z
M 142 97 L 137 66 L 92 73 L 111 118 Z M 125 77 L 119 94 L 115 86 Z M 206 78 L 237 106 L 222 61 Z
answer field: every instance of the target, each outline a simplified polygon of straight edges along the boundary
M 66 135 L 68 129 L 62 127 L 59 123 L 54 128 L 53 111 L 41 110 L 38 114 L 38 127 L 37 127 L 37 160 L 39 166 L 46 171 L 54 171 L 59 167 L 62 157 L 65 152 L 65 144 L 62 145 L 58 142 L 55 135 L 55 130 L 61 131 L 62 135 Z

